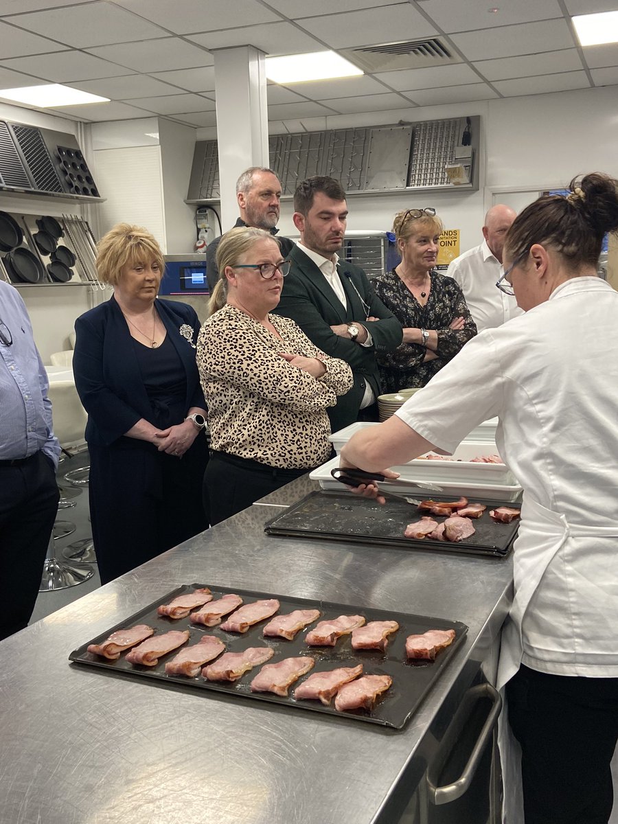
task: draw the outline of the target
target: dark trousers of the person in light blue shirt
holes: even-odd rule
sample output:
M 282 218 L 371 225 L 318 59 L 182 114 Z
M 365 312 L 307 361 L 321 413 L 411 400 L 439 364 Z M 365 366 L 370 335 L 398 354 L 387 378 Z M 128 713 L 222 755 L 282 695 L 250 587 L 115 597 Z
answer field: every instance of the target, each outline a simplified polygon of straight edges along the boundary
M 14 466 L 0 464 L 0 639 L 28 625 L 59 497 L 43 452 Z

